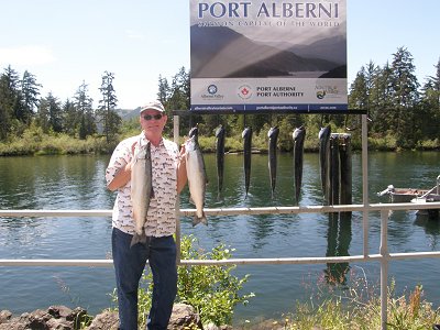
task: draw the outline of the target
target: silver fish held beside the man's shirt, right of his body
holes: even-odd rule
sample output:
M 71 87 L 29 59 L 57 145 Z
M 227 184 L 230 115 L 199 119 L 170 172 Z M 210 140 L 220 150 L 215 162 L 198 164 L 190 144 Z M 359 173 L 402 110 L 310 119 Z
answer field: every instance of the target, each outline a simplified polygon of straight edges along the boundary
M 185 151 L 186 173 L 188 176 L 190 195 L 189 201 L 196 206 L 196 215 L 194 216 L 193 226 L 196 226 L 200 222 L 208 224 L 208 220 L 204 211 L 206 185 L 208 180 L 205 169 L 204 155 L 201 154 L 196 136 L 193 136 L 185 142 Z

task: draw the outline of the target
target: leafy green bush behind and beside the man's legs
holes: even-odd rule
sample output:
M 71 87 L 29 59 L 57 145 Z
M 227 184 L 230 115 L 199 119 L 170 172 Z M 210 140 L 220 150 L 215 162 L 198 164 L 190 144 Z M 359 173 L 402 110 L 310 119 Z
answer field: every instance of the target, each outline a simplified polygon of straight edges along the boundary
M 205 252 L 197 246 L 197 240 L 193 235 L 183 237 L 180 241 L 183 260 L 228 260 L 232 256 L 232 251 L 224 244 L 219 244 L 212 248 L 211 252 Z M 252 293 L 240 294 L 249 275 L 238 278 L 232 274 L 235 265 L 179 265 L 176 302 L 191 305 L 200 315 L 204 324 L 231 324 L 234 307 L 238 304 L 248 304 L 254 296 Z M 145 272 L 138 296 L 139 324 L 142 327 L 145 327 L 151 308 L 152 292 L 152 274 Z M 116 292 L 112 299 L 118 299 Z

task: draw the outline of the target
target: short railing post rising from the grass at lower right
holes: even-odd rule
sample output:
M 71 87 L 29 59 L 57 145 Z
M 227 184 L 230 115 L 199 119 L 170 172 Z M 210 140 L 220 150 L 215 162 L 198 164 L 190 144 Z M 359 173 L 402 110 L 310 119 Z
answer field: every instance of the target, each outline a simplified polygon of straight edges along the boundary
M 388 211 L 381 211 L 381 324 L 386 330 L 388 307 Z

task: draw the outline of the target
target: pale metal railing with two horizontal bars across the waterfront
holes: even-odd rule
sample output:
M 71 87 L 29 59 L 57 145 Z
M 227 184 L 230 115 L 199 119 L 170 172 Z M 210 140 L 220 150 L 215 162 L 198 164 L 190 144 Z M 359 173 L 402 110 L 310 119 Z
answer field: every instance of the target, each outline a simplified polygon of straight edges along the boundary
M 177 122 L 177 124 L 176 124 Z M 180 217 L 193 217 L 195 209 L 176 209 L 177 227 L 177 263 L 180 265 L 257 265 L 257 264 L 328 264 L 350 262 L 378 262 L 381 264 L 381 327 L 387 328 L 387 285 L 388 264 L 391 261 L 408 258 L 440 257 L 439 252 L 389 253 L 387 243 L 387 221 L 392 210 L 427 210 L 440 209 L 440 202 L 426 204 L 369 204 L 367 196 L 367 145 L 366 116 L 362 116 L 362 169 L 363 169 L 363 205 L 338 206 L 304 206 L 304 207 L 260 207 L 260 208 L 206 208 L 206 216 L 239 216 L 239 215 L 298 215 L 298 213 L 333 213 L 362 212 L 363 215 L 363 254 L 332 257 L 270 257 L 270 258 L 229 258 L 229 260 L 182 260 L 180 258 Z M 175 141 L 178 136 L 178 118 L 175 117 Z M 179 204 L 177 204 L 179 205 Z M 111 210 L 0 210 L 0 217 L 110 217 Z M 369 254 L 369 213 L 381 213 L 380 253 Z M 0 260 L 0 266 L 94 266 L 111 267 L 112 260 Z

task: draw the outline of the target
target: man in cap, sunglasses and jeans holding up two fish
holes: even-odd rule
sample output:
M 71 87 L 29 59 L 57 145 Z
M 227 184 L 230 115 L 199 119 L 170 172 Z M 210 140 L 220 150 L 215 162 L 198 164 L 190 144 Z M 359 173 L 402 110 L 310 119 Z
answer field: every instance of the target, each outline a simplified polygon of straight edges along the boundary
M 112 254 L 118 289 L 121 330 L 138 329 L 138 287 L 148 260 L 153 274 L 153 297 L 147 329 L 166 329 L 177 292 L 175 204 L 187 182 L 184 147 L 162 136 L 167 116 L 160 101 L 140 110 L 142 132 L 116 147 L 106 170 L 107 187 L 118 190 L 112 215 Z M 146 243 L 130 246 L 134 234 L 131 200 L 131 166 L 136 144 L 151 144 L 152 185 L 144 224 Z

